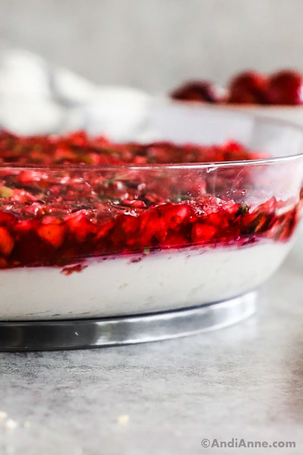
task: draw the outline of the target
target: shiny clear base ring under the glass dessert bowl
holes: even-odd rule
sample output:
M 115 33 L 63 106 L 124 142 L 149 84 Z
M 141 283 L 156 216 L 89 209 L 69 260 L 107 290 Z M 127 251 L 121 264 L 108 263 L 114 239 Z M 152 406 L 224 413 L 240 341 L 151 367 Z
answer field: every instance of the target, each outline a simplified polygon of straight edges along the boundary
M 147 343 L 220 329 L 248 318 L 256 292 L 175 311 L 98 319 L 0 322 L 0 351 L 87 349 Z

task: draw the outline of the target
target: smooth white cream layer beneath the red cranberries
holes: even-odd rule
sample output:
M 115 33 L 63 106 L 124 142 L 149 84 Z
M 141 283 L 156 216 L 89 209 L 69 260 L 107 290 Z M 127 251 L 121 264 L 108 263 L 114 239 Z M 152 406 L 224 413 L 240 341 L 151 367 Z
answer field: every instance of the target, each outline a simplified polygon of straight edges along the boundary
M 89 259 L 69 276 L 57 267 L 5 269 L 0 319 L 102 317 L 217 302 L 258 287 L 290 247 L 256 243 Z

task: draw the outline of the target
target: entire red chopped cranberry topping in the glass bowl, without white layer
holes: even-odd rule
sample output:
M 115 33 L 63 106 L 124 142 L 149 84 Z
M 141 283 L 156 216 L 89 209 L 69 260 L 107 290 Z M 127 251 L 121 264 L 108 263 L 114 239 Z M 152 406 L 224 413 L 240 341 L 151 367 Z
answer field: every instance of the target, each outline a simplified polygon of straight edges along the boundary
M 287 241 L 300 203 L 274 197 L 260 202 L 262 189 L 254 194 L 247 167 L 240 167 L 240 182 L 239 168 L 219 167 L 214 186 L 209 169 L 138 166 L 260 157 L 236 143 L 117 145 L 83 132 L 22 138 L 3 131 L 0 268 L 66 266 L 92 256 L 186 246 L 241 246 L 262 238 Z M 26 167 L 30 164 L 35 167 Z M 247 192 L 259 202 L 248 205 Z

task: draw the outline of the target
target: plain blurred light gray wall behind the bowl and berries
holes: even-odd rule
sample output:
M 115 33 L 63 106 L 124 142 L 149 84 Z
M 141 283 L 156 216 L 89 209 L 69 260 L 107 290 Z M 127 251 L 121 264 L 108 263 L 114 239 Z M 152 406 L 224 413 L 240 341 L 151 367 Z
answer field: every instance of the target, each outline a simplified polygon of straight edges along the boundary
M 0 44 L 149 91 L 234 71 L 303 70 L 303 0 L 0 0 Z

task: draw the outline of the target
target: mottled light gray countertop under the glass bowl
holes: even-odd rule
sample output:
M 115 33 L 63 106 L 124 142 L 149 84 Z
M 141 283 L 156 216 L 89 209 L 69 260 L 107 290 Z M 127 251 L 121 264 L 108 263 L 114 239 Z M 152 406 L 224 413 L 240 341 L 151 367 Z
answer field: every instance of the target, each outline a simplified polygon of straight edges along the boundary
M 208 334 L 0 354 L 0 411 L 18 424 L 9 429 L 0 422 L 0 454 L 248 452 L 205 449 L 204 438 L 295 441 L 296 448 L 249 453 L 302 454 L 302 277 L 302 266 L 288 258 L 261 290 L 256 316 Z M 117 421 L 121 415 L 128 423 Z

